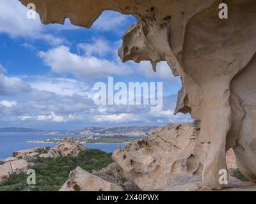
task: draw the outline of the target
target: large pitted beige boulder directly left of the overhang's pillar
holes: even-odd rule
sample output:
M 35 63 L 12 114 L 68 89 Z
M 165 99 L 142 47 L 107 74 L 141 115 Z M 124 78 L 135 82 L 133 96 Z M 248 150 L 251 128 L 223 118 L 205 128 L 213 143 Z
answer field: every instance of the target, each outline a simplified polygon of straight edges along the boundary
M 201 175 L 207 147 L 199 142 L 191 123 L 153 129 L 148 138 L 136 140 L 113 153 L 124 177 L 144 191 L 168 184 L 180 176 Z

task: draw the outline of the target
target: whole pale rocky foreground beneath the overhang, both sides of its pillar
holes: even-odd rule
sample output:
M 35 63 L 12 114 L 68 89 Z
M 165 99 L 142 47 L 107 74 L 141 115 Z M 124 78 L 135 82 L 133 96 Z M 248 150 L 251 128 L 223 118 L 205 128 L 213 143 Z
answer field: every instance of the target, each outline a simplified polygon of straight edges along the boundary
M 88 173 L 78 167 L 60 191 L 210 190 L 201 182 L 209 147 L 198 141 L 199 129 L 191 123 L 153 129 L 148 138 L 118 148 L 108 168 Z M 236 168 L 232 150 L 227 152 L 227 166 L 230 172 Z M 228 188 L 253 186 L 231 177 Z

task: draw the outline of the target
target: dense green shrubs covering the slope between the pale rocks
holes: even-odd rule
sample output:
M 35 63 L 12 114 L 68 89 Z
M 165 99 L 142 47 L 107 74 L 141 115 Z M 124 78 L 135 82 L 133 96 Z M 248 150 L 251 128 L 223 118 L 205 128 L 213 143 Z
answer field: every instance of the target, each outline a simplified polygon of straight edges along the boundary
M 86 171 L 101 170 L 112 163 L 111 154 L 101 150 L 87 149 L 77 157 L 39 158 L 33 161 L 36 185 L 29 186 L 25 173 L 12 174 L 0 184 L 0 191 L 58 191 L 68 180 L 70 171 L 80 166 Z

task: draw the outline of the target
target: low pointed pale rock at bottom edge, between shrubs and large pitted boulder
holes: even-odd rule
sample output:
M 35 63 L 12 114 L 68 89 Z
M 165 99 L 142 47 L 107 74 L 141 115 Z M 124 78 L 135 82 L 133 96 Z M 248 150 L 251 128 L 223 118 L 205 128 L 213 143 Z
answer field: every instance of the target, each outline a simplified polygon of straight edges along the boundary
M 70 172 L 60 191 L 140 191 L 131 180 L 125 179 L 120 166 L 109 164 L 101 171 L 89 173 L 80 167 Z

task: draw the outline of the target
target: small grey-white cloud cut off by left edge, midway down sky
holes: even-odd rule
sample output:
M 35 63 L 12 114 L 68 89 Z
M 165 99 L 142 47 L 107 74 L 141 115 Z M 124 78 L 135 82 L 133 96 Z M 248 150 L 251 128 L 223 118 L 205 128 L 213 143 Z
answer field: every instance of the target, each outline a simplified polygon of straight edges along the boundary
M 29 91 L 31 91 L 30 86 L 20 78 L 6 77 L 0 73 L 0 95 L 11 95 Z

